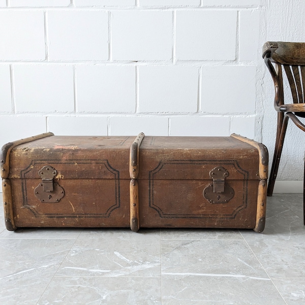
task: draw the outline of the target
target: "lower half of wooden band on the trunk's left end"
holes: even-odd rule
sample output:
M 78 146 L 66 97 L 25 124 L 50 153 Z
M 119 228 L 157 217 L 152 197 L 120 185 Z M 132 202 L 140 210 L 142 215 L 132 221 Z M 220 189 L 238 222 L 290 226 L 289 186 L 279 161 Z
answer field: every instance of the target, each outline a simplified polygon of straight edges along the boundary
M 17 227 L 14 222 L 12 186 L 9 179 L 2 180 L 2 189 L 5 226 L 9 231 L 14 231 Z

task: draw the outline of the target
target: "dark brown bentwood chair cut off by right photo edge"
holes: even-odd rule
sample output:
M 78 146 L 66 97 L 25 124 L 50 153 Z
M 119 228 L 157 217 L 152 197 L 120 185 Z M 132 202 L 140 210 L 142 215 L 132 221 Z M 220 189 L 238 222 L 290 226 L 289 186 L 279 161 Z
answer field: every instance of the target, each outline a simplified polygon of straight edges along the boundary
M 263 58 L 275 84 L 274 106 L 278 111 L 275 154 L 267 189 L 267 195 L 272 196 L 289 118 L 298 128 L 305 131 L 305 125 L 298 119 L 298 117 L 305 117 L 305 43 L 266 42 L 263 46 Z M 289 98 L 289 95 L 284 93 L 285 74 L 290 85 L 293 103 L 285 101 L 285 97 Z M 305 191 L 305 183 L 303 191 Z M 303 205 L 305 224 L 305 193 L 303 193 Z

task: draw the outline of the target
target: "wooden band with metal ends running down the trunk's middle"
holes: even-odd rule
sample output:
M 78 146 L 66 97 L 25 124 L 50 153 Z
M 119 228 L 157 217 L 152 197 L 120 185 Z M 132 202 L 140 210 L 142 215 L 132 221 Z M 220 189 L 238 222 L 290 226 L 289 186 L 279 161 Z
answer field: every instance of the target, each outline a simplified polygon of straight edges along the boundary
M 140 133 L 130 146 L 129 155 L 129 175 L 130 181 L 130 228 L 137 232 L 140 228 L 139 223 L 139 184 L 137 181 L 139 175 L 139 151 L 140 145 L 144 138 L 144 134 Z

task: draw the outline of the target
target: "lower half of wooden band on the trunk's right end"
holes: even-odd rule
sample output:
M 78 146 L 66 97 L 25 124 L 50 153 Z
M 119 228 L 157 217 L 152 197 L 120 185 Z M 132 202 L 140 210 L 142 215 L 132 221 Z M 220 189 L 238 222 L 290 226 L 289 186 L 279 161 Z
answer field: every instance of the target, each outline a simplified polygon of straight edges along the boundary
M 266 221 L 267 180 L 260 180 L 258 185 L 256 224 L 254 231 L 262 232 Z

